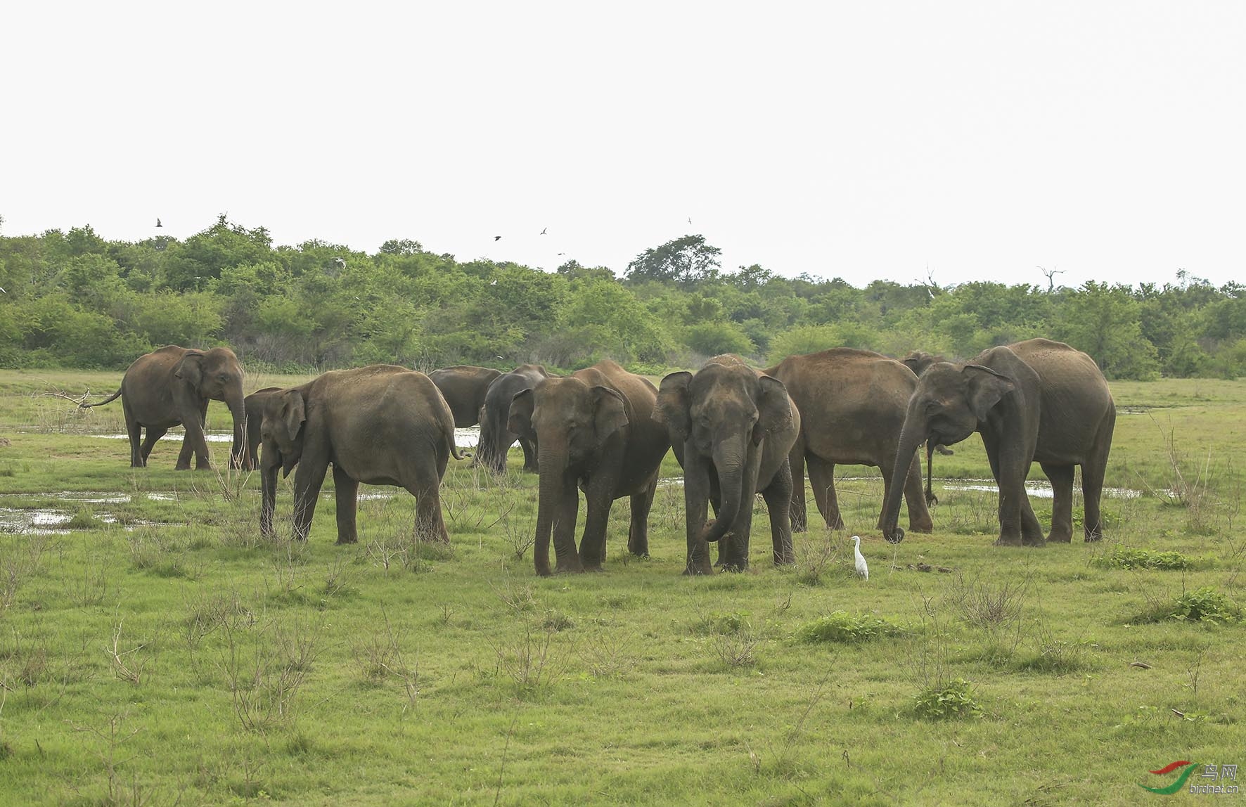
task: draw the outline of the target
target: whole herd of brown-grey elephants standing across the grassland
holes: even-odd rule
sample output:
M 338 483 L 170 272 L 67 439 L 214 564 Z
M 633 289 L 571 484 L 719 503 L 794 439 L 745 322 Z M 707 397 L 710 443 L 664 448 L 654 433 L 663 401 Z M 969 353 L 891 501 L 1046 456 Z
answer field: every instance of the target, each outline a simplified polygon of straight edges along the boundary
M 755 370 L 738 356 L 716 356 L 697 372 L 672 372 L 654 386 L 613 361 L 548 374 L 540 365 L 510 372 L 472 366 L 429 375 L 395 365 L 333 370 L 292 387 L 243 396 L 243 371 L 227 347 L 168 345 L 138 357 L 121 381 L 131 466 L 147 465 L 152 446 L 181 423 L 178 470 L 209 467 L 203 433 L 208 401 L 233 415 L 234 467 L 259 470 L 260 531 L 273 531 L 277 472 L 294 476 L 294 536 L 305 538 L 324 476 L 333 466 L 338 542 L 358 539 L 359 483 L 394 484 L 416 498 L 416 536 L 449 540 L 439 488 L 455 447 L 455 427 L 480 423 L 473 462 L 506 471 L 517 440 L 523 467 L 538 474 L 533 558 L 538 574 L 599 569 L 611 504 L 630 498 L 628 549 L 648 553 L 648 516 L 658 470 L 673 448 L 684 470 L 688 574 L 749 562 L 753 499 L 770 516 L 776 564 L 791 563 L 792 531 L 805 523 L 805 467 L 826 524 L 841 528 L 835 465 L 876 466 L 885 493 L 878 528 L 903 539 L 908 527 L 931 532 L 917 450 L 982 441 L 999 487 L 998 544 L 1042 545 L 1073 537 L 1074 466 L 1082 466 L 1087 540 L 1101 536 L 1099 499 L 1116 412 L 1103 374 L 1087 354 L 1030 339 L 991 347 L 969 361 L 925 352 L 896 360 L 837 347 L 789 356 Z M 146 436 L 143 436 L 146 428 Z M 259 446 L 263 445 L 260 458 Z M 1052 528 L 1043 536 L 1024 481 L 1032 462 L 1052 481 Z M 579 492 L 587 502 L 576 547 Z M 708 518 L 713 506 L 714 518 Z M 553 536 L 554 567 L 549 564 Z

